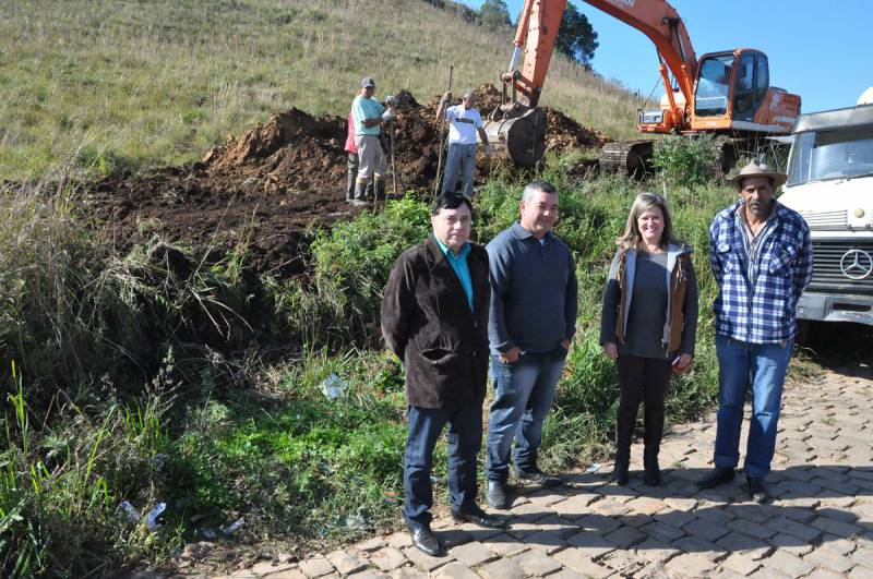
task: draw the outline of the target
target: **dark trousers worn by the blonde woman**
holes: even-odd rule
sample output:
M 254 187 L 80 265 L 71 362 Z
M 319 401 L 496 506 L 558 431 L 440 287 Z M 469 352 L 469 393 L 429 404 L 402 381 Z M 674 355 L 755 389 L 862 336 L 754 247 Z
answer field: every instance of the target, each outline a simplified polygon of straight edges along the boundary
M 672 367 L 667 360 L 619 355 L 619 414 L 615 423 L 615 457 L 627 460 L 631 456 L 636 412 L 645 401 L 645 453 L 646 458 L 657 459 L 663 436 L 663 401 L 670 384 Z

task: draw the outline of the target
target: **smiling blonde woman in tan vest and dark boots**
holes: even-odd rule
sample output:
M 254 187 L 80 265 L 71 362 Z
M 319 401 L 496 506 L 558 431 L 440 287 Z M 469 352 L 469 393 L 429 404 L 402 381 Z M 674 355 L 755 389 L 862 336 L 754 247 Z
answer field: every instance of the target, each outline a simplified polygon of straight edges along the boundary
M 670 375 L 685 370 L 694 355 L 697 282 L 692 249 L 673 237 L 667 202 L 656 193 L 637 195 L 617 245 L 600 323 L 600 345 L 615 361 L 621 393 L 613 475 L 617 483 L 627 483 L 636 412 L 645 400 L 645 482 L 657 486 Z

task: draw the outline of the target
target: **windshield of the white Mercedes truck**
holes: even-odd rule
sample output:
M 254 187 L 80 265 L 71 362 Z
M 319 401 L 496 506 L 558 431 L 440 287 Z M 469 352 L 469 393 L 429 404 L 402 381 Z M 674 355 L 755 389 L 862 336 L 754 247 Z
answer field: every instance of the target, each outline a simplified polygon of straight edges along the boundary
M 794 137 L 788 184 L 873 174 L 873 129 L 820 131 Z

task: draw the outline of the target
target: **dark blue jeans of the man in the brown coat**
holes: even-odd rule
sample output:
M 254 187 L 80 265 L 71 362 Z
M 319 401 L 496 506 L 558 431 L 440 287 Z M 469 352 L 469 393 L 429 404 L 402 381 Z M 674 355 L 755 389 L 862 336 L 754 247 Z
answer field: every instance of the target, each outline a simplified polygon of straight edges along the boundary
M 406 502 L 403 516 L 407 524 L 430 524 L 433 488 L 430 471 L 433 447 L 449 427 L 449 494 L 452 510 L 476 505 L 476 456 L 482 447 L 482 409 L 409 407 L 409 434 L 404 455 L 403 483 Z

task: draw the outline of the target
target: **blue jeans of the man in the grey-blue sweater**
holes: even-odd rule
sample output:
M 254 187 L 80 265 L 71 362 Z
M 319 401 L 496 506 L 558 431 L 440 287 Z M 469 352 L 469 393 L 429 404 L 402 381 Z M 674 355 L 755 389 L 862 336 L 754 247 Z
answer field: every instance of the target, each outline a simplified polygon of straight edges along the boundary
M 564 370 L 566 350 L 525 353 L 512 364 L 491 357 L 494 401 L 488 419 L 486 477 L 506 482 L 510 478 L 510 448 L 515 439 L 513 462 L 526 471 L 537 468 L 537 450 L 542 441 L 542 423 L 554 401 L 554 387 Z

